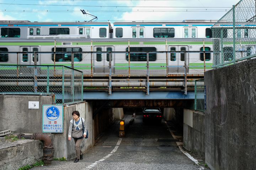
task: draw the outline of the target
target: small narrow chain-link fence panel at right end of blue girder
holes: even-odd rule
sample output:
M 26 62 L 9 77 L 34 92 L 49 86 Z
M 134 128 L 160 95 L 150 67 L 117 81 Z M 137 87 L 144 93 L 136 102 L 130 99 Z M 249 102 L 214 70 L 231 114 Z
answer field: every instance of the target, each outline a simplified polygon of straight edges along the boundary
M 195 110 L 204 112 L 204 79 L 195 81 Z

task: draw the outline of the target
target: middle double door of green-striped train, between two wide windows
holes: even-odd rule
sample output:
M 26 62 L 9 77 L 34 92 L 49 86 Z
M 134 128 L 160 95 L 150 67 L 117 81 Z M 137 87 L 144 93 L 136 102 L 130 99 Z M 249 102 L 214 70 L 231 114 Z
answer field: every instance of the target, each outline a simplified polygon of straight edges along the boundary
M 94 51 L 113 51 L 113 46 L 95 46 Z M 110 57 L 108 53 L 97 53 L 94 54 L 93 62 L 94 66 L 104 66 L 104 67 L 94 67 L 95 74 L 107 74 L 109 73 L 109 61 Z M 114 55 L 111 54 L 111 65 L 114 66 Z M 114 73 L 114 68 L 111 69 L 111 72 Z

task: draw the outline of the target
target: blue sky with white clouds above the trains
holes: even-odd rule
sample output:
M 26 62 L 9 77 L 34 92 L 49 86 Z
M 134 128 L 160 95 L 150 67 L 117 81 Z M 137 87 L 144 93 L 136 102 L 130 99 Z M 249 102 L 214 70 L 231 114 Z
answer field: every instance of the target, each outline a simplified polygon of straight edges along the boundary
M 111 23 L 219 20 L 238 2 L 239 0 L 0 0 L 0 20 L 84 22 L 93 19 L 96 22 Z

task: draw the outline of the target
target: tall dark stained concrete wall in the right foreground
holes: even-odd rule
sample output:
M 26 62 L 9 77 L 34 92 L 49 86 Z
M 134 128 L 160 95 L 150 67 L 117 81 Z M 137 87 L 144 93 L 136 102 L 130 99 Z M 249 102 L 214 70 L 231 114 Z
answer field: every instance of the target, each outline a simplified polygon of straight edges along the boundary
M 256 60 L 207 71 L 206 163 L 212 170 L 256 167 Z

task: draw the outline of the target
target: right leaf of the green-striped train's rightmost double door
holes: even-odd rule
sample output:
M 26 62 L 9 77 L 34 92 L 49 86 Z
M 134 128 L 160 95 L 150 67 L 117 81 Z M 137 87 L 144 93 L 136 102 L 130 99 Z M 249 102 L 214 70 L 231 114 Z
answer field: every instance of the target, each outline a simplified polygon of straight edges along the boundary
M 178 46 L 178 51 L 188 51 L 188 46 Z M 180 74 L 185 74 L 185 55 L 186 55 L 186 62 L 188 65 L 188 53 L 178 53 L 178 57 L 177 57 L 177 66 L 181 66 L 181 67 L 177 67 L 177 72 Z M 176 54 L 177 56 L 177 54 Z M 188 73 L 188 69 L 187 69 L 187 73 Z

